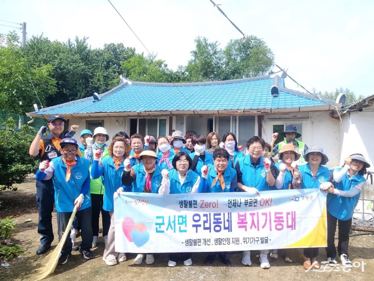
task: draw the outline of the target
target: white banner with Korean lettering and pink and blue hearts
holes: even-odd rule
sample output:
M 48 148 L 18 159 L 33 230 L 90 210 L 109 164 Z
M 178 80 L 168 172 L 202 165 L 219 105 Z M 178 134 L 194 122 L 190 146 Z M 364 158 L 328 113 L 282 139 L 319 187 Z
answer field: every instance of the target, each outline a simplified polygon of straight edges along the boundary
M 318 189 L 159 195 L 114 193 L 116 251 L 178 253 L 327 246 Z

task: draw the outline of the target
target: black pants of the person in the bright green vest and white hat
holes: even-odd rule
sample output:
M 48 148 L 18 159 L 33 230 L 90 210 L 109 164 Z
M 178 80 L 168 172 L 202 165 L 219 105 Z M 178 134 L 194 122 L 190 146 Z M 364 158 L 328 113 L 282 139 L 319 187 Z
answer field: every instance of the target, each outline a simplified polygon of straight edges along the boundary
M 102 236 L 107 236 L 110 227 L 110 214 L 102 208 L 103 194 L 92 194 L 91 193 L 91 205 L 92 205 L 92 233 L 93 236 L 99 236 L 99 218 L 101 211 L 102 221 Z

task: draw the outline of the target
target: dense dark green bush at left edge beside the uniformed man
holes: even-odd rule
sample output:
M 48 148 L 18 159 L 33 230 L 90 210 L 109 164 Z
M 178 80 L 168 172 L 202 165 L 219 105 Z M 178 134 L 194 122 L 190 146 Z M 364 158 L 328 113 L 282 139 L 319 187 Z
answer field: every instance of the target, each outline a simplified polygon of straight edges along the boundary
M 13 129 L 15 126 L 12 117 L 1 124 L 0 187 L 2 190 L 10 189 L 15 183 L 22 183 L 28 174 L 36 170 L 36 160 L 28 154 L 28 148 L 36 132 L 28 125 L 22 126 L 21 131 L 17 132 Z

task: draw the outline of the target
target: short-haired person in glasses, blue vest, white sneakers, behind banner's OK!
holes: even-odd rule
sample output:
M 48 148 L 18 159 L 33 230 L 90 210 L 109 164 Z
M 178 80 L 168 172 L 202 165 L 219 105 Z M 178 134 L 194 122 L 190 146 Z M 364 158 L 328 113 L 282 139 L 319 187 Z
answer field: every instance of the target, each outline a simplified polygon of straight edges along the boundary
M 276 169 L 268 158 L 262 156 L 265 141 L 258 136 L 247 141 L 246 148 L 249 154 L 239 158 L 235 165 L 237 172 L 237 187 L 248 195 L 258 195 L 260 191 L 270 190 L 275 184 Z M 270 268 L 267 259 L 269 250 L 260 251 L 260 267 Z M 242 264 L 252 265 L 251 251 L 243 251 Z

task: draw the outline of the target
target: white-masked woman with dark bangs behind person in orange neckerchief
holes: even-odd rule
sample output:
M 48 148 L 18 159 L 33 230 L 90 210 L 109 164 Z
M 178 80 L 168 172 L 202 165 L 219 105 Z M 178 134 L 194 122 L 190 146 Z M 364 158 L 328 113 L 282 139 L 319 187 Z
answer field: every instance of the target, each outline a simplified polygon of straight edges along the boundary
M 213 164 L 213 155 L 208 152 L 205 152 L 205 136 L 194 135 L 191 140 L 191 143 L 194 146 L 193 148 L 195 152 L 190 154 L 190 157 L 192 158 L 192 165 L 190 166 L 190 168 L 199 176 L 201 176 L 202 166 Z

